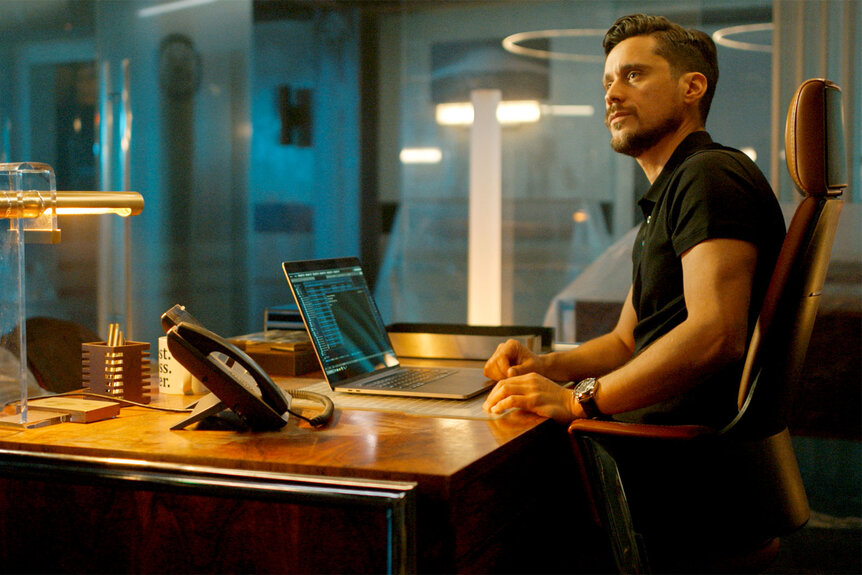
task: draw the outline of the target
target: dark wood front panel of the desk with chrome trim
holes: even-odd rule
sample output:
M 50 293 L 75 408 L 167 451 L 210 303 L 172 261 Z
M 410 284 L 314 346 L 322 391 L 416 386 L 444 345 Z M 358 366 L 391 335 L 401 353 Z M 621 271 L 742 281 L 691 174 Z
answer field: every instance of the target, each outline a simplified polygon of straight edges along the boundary
M 412 483 L 0 450 L 7 572 L 414 572 L 414 533 Z

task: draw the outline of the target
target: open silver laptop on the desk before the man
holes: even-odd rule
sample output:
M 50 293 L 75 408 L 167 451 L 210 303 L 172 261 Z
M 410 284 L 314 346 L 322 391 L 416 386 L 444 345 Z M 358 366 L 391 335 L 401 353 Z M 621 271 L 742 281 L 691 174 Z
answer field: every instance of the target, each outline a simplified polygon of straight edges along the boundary
M 282 268 L 333 391 L 469 399 L 494 386 L 479 368 L 400 365 L 359 259 L 284 262 Z

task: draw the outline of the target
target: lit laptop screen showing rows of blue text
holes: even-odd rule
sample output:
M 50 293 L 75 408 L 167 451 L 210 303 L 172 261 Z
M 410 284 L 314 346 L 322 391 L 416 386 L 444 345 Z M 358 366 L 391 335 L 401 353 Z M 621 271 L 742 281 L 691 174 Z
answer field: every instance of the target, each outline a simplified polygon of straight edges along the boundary
M 359 260 L 285 262 L 283 267 L 330 384 L 398 365 Z

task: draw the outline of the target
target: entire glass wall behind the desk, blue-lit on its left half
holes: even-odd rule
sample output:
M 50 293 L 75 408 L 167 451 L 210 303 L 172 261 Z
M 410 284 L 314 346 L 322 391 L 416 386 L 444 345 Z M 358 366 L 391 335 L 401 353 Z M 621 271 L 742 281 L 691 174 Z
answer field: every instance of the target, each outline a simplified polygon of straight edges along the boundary
M 858 180 L 856 2 L 0 0 L 0 160 L 146 202 L 128 223 L 61 221 L 62 243 L 32 258 L 31 314 L 101 331 L 131 308 L 135 339 L 154 343 L 182 303 L 249 332 L 290 301 L 282 260 L 364 253 L 388 323 L 465 322 L 471 128 L 457 104 L 491 87 L 506 113 L 531 114 L 501 120 L 503 322 L 580 338 L 626 293 L 646 188 L 608 146 L 600 85 L 601 34 L 636 11 L 718 33 L 707 128 L 756 158 L 788 211 L 784 108 L 804 77 L 844 87 Z M 856 187 L 836 240 L 848 277 Z

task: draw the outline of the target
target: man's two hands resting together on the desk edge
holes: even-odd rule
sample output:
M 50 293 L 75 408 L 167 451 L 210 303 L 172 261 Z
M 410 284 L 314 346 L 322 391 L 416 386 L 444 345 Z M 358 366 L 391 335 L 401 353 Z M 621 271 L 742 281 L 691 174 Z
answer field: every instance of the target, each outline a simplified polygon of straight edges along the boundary
M 515 340 L 501 343 L 485 363 L 485 376 L 497 385 L 482 408 L 492 414 L 525 409 L 563 424 L 582 417 L 572 391 L 543 375 L 552 375 L 547 363 L 547 356 L 535 354 Z

